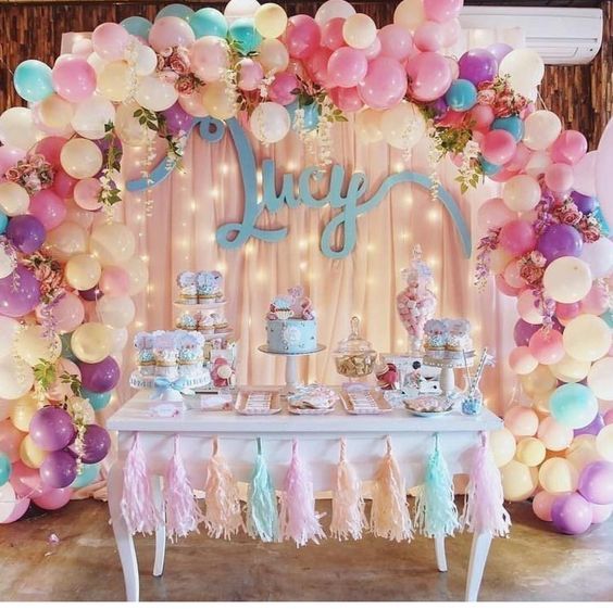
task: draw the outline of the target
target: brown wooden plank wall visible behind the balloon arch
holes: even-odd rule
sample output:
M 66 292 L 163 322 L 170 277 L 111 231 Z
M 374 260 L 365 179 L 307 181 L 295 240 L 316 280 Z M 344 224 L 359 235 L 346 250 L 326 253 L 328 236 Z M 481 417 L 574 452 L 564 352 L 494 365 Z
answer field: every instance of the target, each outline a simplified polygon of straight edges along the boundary
M 20 105 L 10 71 L 25 59 L 50 65 L 65 31 L 91 31 L 104 22 L 120 22 L 129 15 L 152 20 L 161 5 L 149 2 L 2 2 L 0 3 L 0 110 Z M 168 2 L 170 3 L 170 2 Z M 193 8 L 218 2 L 185 2 Z M 225 3 L 225 2 L 224 2 Z M 314 14 L 320 2 L 282 1 L 289 14 Z M 593 148 L 613 115 L 613 3 L 604 2 L 604 36 L 599 56 L 588 66 L 548 67 L 542 87 L 543 103 L 581 130 Z M 378 24 L 391 22 L 396 2 L 354 2 Z

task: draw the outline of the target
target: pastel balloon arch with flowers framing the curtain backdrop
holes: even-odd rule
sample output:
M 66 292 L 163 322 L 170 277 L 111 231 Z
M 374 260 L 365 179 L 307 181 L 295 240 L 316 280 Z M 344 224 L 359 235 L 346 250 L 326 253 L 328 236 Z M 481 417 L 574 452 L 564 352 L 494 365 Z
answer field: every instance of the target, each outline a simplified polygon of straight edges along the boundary
M 534 51 L 446 56 L 462 3 L 403 0 L 380 29 L 345 0 L 314 18 L 255 0 L 224 13 L 172 4 L 154 23 L 99 25 L 53 67 L 16 67 L 28 107 L 0 115 L 0 522 L 30 500 L 64 505 L 110 446 L 95 411 L 118 382 L 132 296 L 148 283 L 114 219 L 123 148 L 141 147 L 151 169 L 162 141 L 175 167 L 195 119 L 238 117 L 261 142 L 293 129 L 325 166 L 348 114 L 364 144 L 409 152 L 431 138 L 463 192 L 486 176 L 501 183 L 478 210 L 476 282 L 495 274 L 520 315 L 509 364 L 523 396 L 491 442 L 505 497 L 536 493 L 535 513 L 566 533 L 611 515 L 613 128 L 588 153 L 580 132 L 536 110 Z

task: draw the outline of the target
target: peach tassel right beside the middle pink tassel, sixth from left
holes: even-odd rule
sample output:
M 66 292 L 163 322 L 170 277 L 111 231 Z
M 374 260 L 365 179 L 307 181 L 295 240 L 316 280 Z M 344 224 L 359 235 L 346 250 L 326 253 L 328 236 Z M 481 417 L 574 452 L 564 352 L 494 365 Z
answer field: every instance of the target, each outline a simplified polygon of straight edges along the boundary
M 330 533 L 333 537 L 346 541 L 362 538 L 366 528 L 362 483 L 355 469 L 347 460 L 347 443 L 340 441 L 340 461 L 336 470 L 336 489 L 333 493 L 333 516 Z

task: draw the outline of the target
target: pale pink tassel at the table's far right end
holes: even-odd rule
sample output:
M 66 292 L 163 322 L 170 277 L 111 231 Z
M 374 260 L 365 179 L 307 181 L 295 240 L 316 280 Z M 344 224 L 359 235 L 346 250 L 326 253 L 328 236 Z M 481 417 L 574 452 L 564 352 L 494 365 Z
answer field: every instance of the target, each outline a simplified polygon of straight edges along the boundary
M 495 537 L 509 535 L 511 517 L 504 509 L 500 470 L 488 447 L 487 434 L 481 432 L 466 487 L 462 522 L 471 533 L 491 533 Z

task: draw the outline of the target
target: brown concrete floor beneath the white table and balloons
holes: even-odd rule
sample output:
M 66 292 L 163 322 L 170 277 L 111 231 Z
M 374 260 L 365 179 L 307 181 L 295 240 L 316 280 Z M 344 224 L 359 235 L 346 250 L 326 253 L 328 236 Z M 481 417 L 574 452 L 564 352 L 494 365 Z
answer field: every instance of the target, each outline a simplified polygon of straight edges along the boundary
M 320 509 L 329 512 L 329 502 Z M 528 504 L 510 508 L 509 540 L 495 540 L 480 600 L 612 600 L 613 520 L 580 537 L 549 530 Z M 49 536 L 59 543 L 50 544 Z M 204 532 L 166 553 L 150 574 L 151 537 L 137 538 L 142 600 L 462 600 L 470 535 L 448 541 L 438 573 L 429 540 L 410 545 L 366 536 L 296 549 Z M 1 600 L 123 600 L 107 505 L 72 502 L 60 511 L 0 526 Z

